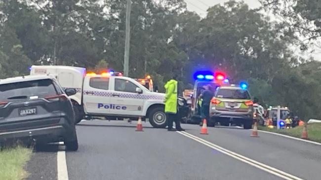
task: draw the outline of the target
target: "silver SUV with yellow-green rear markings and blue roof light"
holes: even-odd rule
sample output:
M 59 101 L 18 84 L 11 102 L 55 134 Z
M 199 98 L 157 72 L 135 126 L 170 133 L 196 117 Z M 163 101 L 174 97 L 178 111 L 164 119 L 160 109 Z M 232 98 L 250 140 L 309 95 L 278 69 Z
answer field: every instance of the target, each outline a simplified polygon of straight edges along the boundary
M 219 122 L 221 125 L 243 125 L 252 128 L 253 101 L 247 90 L 247 84 L 219 87 L 211 100 L 209 126 Z

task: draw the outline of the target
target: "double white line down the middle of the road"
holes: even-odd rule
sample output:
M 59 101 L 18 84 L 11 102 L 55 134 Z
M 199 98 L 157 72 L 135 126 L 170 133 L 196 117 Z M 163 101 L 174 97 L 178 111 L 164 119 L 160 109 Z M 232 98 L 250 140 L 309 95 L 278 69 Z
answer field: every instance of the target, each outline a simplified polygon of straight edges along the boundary
M 222 152 L 222 153 L 224 153 L 224 154 L 226 154 L 228 156 L 231 156 L 231 157 L 233 157 L 235 159 L 238 159 L 238 160 L 240 160 L 240 161 L 242 161 L 242 162 L 244 162 L 246 164 L 254 166 L 254 167 L 258 168 L 258 169 L 266 171 L 266 172 L 268 172 L 270 174 L 273 174 L 275 176 L 278 176 L 278 177 L 280 177 L 280 178 L 282 178 L 284 180 L 303 180 L 301 178 L 298 178 L 296 176 L 290 175 L 288 173 L 285 173 L 285 172 L 280 171 L 280 170 L 278 170 L 276 168 L 273 168 L 273 167 L 268 166 L 266 164 L 263 164 L 263 163 L 260 163 L 258 161 L 255 161 L 253 159 L 250 159 L 248 157 L 245 157 L 245 156 L 243 156 L 241 154 L 238 154 L 236 152 L 233 152 L 231 150 L 224 149 L 224 148 L 222 148 L 220 146 L 217 146 L 217 145 L 215 145 L 213 143 L 205 141 L 205 140 L 203 140 L 203 139 L 201 139 L 201 138 L 199 138 L 197 136 L 194 136 L 194 135 L 192 135 L 190 133 L 183 132 L 183 131 L 177 131 L 177 133 L 182 134 L 183 136 L 186 136 L 186 137 L 188 137 L 190 139 L 193 139 L 193 140 L 195 140 L 195 141 L 197 141 L 197 142 L 199 142 L 199 143 L 201 143 L 201 144 L 203 144 L 203 145 L 205 145 L 205 146 L 207 146 L 209 148 L 212 148 L 214 150 L 218 150 L 218 151 L 220 151 L 220 152 Z

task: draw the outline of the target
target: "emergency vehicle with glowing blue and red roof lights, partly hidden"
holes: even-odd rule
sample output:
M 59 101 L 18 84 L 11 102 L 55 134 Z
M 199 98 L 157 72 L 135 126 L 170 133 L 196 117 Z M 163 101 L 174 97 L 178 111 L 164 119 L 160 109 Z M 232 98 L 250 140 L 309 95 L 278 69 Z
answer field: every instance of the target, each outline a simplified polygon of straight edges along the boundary
M 201 122 L 201 106 L 199 101 L 199 96 L 203 87 L 206 85 L 211 85 L 214 90 L 217 87 L 228 85 L 229 79 L 223 72 L 211 72 L 211 71 L 199 71 L 194 74 L 195 84 L 191 100 L 191 111 L 189 114 L 189 121 L 191 123 Z

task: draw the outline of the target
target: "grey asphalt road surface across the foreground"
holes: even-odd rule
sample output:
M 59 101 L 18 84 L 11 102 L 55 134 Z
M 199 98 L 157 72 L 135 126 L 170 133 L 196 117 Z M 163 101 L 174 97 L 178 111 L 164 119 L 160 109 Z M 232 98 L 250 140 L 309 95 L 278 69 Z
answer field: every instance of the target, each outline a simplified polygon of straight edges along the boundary
M 320 180 L 319 145 L 263 132 L 252 138 L 237 127 L 201 135 L 198 125 L 183 124 L 180 133 L 144 122 L 144 132 L 136 132 L 135 124 L 81 122 L 79 150 L 51 145 L 36 152 L 29 179 L 62 180 L 65 173 L 69 180 Z M 57 151 L 66 154 L 65 172 Z

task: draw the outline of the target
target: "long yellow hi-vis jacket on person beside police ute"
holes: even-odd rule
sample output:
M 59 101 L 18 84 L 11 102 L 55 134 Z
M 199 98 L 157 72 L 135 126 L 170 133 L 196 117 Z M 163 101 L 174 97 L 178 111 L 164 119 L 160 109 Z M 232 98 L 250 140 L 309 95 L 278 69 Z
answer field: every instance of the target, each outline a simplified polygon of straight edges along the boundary
M 169 80 L 165 84 L 165 113 L 176 114 L 177 113 L 177 81 Z

